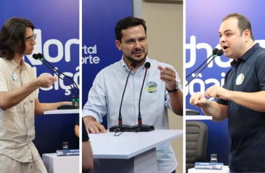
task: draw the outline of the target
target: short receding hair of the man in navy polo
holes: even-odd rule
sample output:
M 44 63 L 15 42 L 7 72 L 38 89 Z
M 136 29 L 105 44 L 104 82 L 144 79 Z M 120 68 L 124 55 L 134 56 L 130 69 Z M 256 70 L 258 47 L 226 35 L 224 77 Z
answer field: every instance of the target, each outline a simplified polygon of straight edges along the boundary
M 251 29 L 251 23 L 250 23 L 249 19 L 240 13 L 231 13 L 231 14 L 228 14 L 227 16 L 225 16 L 222 21 L 225 21 L 226 19 L 229 19 L 231 17 L 237 18 L 237 27 L 240 30 L 241 36 L 245 30 L 249 30 L 250 31 L 250 38 L 252 40 L 254 40 L 252 29 Z

